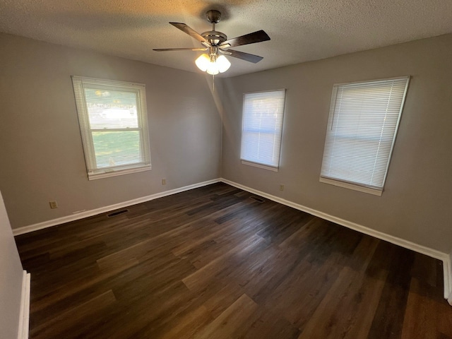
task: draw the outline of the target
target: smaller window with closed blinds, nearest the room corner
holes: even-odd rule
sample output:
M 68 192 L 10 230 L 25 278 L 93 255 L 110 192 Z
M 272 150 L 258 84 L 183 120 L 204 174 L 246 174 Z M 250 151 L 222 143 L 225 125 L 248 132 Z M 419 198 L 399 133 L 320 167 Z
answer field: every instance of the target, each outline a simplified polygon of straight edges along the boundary
M 242 164 L 278 171 L 284 102 L 285 90 L 244 94 Z

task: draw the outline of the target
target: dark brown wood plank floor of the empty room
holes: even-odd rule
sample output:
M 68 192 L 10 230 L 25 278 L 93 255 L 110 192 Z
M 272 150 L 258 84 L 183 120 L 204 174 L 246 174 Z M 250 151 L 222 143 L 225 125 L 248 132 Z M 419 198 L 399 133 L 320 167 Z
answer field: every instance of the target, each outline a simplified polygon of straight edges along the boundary
M 16 242 L 30 338 L 452 338 L 441 261 L 226 184 Z

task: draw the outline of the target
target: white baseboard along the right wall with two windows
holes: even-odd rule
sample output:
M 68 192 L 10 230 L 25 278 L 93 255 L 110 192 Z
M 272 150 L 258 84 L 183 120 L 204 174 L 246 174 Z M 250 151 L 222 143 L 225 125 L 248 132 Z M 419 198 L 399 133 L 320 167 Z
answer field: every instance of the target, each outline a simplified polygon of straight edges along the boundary
M 244 186 L 242 184 L 237 184 L 237 182 L 231 182 L 230 180 L 220 178 L 221 182 L 225 184 L 237 187 L 238 189 L 243 189 L 244 191 L 249 191 L 250 193 L 257 194 L 258 196 L 263 196 L 264 198 L 268 198 L 277 203 L 282 203 L 285 206 L 290 206 L 297 210 L 302 210 L 303 212 L 309 213 L 311 215 L 315 215 L 316 217 L 335 222 L 338 225 L 342 225 L 344 227 L 350 228 L 352 230 L 370 235 L 371 237 L 376 237 L 377 239 L 384 240 L 386 242 L 391 242 L 391 244 L 396 244 L 398 246 L 402 246 L 405 249 L 411 249 L 412 251 L 416 251 L 420 254 L 425 254 L 426 256 L 431 256 L 432 258 L 439 259 L 443 261 L 443 273 L 444 273 L 444 299 L 448 299 L 448 303 L 452 305 L 452 252 L 451 254 L 446 254 L 436 249 L 430 249 L 429 247 L 422 246 L 420 244 L 415 244 L 414 242 L 409 242 L 408 240 L 401 239 L 398 237 L 394 237 L 391 234 L 386 234 L 383 232 L 379 232 L 376 230 L 372 230 L 369 227 L 365 227 L 359 225 L 355 222 L 351 222 L 348 220 L 344 220 L 334 215 L 329 215 L 327 213 L 323 213 L 319 210 L 314 210 L 313 208 L 309 208 L 307 206 L 299 205 L 298 203 L 293 203 L 292 201 L 285 200 L 283 198 L 279 198 L 278 196 L 273 196 L 271 194 L 267 194 L 263 191 L 258 191 L 257 189 L 251 189 L 248 186 Z

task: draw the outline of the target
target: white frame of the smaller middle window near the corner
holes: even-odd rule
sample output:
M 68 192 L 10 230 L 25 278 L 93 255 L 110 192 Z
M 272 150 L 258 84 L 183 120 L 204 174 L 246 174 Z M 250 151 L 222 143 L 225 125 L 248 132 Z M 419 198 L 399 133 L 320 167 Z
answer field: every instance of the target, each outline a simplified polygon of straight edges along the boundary
M 256 162 L 249 159 L 244 158 L 244 133 L 245 132 L 245 119 L 246 119 L 246 96 L 247 95 L 254 95 L 254 94 L 260 94 L 260 93 L 278 93 L 283 92 L 283 112 L 281 113 L 281 123 L 280 123 L 280 129 L 279 129 L 279 138 L 278 138 L 278 163 L 276 165 L 268 165 L 266 163 L 262 162 Z M 243 100 L 242 100 L 242 133 L 241 133 L 241 141 L 240 141 L 240 161 L 242 165 L 249 165 L 253 167 L 258 167 L 262 169 L 268 169 L 273 172 L 278 172 L 280 167 L 280 155 L 281 155 L 281 146 L 283 141 L 283 127 L 284 127 L 284 114 L 285 114 L 285 98 L 286 98 L 287 90 L 285 88 L 280 88 L 278 90 L 261 90 L 257 92 L 248 92 L 243 94 Z M 259 133 L 261 133 L 261 130 L 259 130 Z M 267 132 L 270 133 L 270 132 Z M 274 133 L 270 133 L 274 134 Z

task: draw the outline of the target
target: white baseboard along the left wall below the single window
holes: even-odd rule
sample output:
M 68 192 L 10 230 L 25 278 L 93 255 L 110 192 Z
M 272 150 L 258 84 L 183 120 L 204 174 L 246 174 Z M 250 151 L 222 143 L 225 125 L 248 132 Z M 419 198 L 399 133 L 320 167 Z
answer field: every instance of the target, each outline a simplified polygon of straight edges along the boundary
M 144 203 L 146 201 L 151 201 L 151 200 L 154 200 L 157 198 L 162 198 L 163 196 L 170 196 L 172 194 L 177 194 L 177 193 L 180 193 L 183 191 L 188 191 L 189 189 L 197 189 L 198 187 L 215 184 L 215 182 L 220 182 L 220 179 L 212 179 L 212 180 L 208 180 L 206 182 L 199 182 L 198 184 L 192 184 L 189 186 L 180 187 L 179 189 L 171 189 L 169 191 L 163 191 L 160 193 L 151 194 L 150 196 L 143 196 L 141 198 L 124 201 L 122 203 L 115 203 L 114 205 L 95 208 L 94 210 L 86 210 L 81 213 L 66 215 L 65 217 L 61 217 L 61 218 L 47 220 L 44 222 L 39 222 L 37 224 L 28 225 L 28 226 L 24 226 L 24 227 L 14 228 L 13 235 L 16 236 L 16 235 L 20 235 L 20 234 L 25 234 L 25 233 L 29 233 L 29 232 L 33 232 L 33 231 L 37 231 L 37 230 L 42 230 L 47 227 L 61 225 L 61 224 L 64 224 L 65 222 L 71 222 L 74 220 L 88 218 L 93 215 L 109 212 L 110 210 L 117 210 L 118 208 L 124 208 L 127 206 L 136 205 L 137 203 Z

